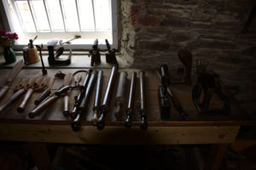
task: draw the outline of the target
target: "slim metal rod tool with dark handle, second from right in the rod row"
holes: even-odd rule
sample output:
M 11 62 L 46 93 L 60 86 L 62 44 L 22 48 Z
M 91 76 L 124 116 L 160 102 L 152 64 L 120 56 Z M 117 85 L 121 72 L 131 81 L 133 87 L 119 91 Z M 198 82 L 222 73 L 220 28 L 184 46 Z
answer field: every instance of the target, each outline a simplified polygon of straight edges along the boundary
M 137 72 L 131 73 L 131 86 L 130 86 L 130 94 L 128 105 L 126 109 L 126 118 L 125 118 L 125 127 L 131 127 L 132 123 L 132 115 L 134 114 L 134 98 L 135 98 L 135 90 L 136 90 L 136 78 Z

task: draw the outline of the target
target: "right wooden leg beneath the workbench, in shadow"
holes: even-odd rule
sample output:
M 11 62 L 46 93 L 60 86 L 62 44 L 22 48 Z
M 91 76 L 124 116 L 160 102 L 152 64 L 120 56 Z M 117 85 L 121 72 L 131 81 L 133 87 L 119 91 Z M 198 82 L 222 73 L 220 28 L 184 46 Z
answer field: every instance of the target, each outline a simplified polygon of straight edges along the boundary
M 229 144 L 212 144 L 209 150 L 204 170 L 218 170 Z

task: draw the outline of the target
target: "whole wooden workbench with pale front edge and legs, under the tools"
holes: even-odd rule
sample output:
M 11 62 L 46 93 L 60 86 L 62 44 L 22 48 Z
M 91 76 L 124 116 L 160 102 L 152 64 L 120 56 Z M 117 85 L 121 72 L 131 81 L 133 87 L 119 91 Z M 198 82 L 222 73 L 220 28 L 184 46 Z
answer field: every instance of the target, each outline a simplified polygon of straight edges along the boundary
M 78 69 L 62 69 L 61 71 L 67 73 L 77 70 Z M 10 69 L 1 69 L 0 78 L 2 81 L 0 83 L 3 84 L 9 71 Z M 48 75 L 45 77 L 54 77 L 57 71 L 59 70 L 48 69 Z M 103 69 L 103 71 L 102 98 L 107 87 L 111 70 Z M 119 72 L 120 71 L 127 71 L 129 81 L 132 71 L 137 71 L 138 73 L 138 70 L 120 69 Z M 20 78 L 26 77 L 42 77 L 41 70 L 21 70 L 19 76 L 12 83 L 9 93 L 1 100 L 0 104 L 3 104 L 3 102 L 13 94 L 13 88 Z M 138 81 L 137 78 L 137 85 Z M 159 78 L 155 75 L 154 71 L 146 71 L 145 82 L 148 111 L 148 130 L 146 131 L 142 131 L 139 128 L 140 115 L 137 110 L 133 117 L 131 129 L 125 127 L 124 119 L 115 120 L 113 111 L 116 91 L 114 91 L 112 95 L 112 107 L 106 118 L 106 127 L 102 131 L 99 131 L 95 126 L 91 125 L 90 119 L 95 95 L 92 93 L 90 96 L 90 105 L 85 113 L 84 121 L 82 122 L 83 126 L 79 132 L 73 132 L 70 126 L 70 118 L 62 115 L 62 98 L 57 99 L 54 105 L 51 105 L 39 116 L 33 119 L 29 118 L 27 113 L 32 111 L 34 107 L 33 101 L 39 95 L 39 93 L 34 93 L 24 113 L 18 113 L 16 111 L 17 106 L 20 105 L 21 99 L 19 99 L 15 104 L 11 105 L 6 111 L 0 114 L 0 140 L 33 142 L 30 143 L 31 146 L 39 144 L 34 142 L 69 144 L 212 144 L 212 150 L 209 153 L 204 169 L 218 169 L 227 144 L 233 143 L 236 140 L 236 135 L 241 125 L 248 123 L 244 110 L 237 104 L 236 100 L 231 98 L 230 116 L 201 116 L 195 110 L 195 106 L 192 102 L 191 89 L 193 86 L 189 87 L 185 84 L 173 85 L 172 90 L 181 101 L 184 111 L 189 114 L 190 121 L 183 122 L 174 106 L 172 106 L 171 120 L 163 121 L 160 119 L 157 97 L 157 88 L 160 82 Z M 52 90 L 54 91 L 61 86 L 61 83 L 61 79 L 55 79 Z M 115 87 L 117 87 L 117 83 Z M 128 98 L 129 88 L 130 82 L 127 82 L 126 98 Z M 71 99 L 70 110 L 73 109 L 73 97 L 78 93 L 78 90 L 68 92 Z M 42 144 L 39 146 L 42 147 Z M 38 147 L 38 145 L 36 147 Z M 34 152 L 37 151 L 38 150 L 34 150 Z M 42 152 L 42 148 L 40 152 L 41 154 L 44 153 Z M 32 153 L 32 155 L 35 156 L 36 154 Z M 35 161 L 40 164 L 36 157 Z M 47 162 L 49 163 L 49 160 Z M 42 166 L 38 165 L 39 168 L 47 168 L 45 167 L 45 163 L 41 162 L 41 164 Z

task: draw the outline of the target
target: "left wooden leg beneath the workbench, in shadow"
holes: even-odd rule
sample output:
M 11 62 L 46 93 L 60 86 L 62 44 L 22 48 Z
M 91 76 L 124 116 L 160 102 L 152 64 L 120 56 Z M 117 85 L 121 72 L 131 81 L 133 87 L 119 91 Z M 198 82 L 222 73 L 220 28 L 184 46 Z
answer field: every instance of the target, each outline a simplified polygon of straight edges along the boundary
M 28 142 L 27 146 L 38 169 L 49 170 L 50 158 L 45 144 L 39 142 Z

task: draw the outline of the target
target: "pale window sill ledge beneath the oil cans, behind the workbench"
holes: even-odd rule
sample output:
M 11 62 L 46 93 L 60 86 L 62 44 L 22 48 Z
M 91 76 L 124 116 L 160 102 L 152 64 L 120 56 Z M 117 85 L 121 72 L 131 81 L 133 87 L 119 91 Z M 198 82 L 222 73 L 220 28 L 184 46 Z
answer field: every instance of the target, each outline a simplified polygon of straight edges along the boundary
M 68 55 L 63 54 L 61 55 L 61 57 L 65 58 Z M 105 55 L 101 55 L 102 56 L 102 63 L 100 65 L 96 65 L 95 68 L 100 68 L 100 69 L 106 69 L 106 68 L 111 68 L 112 65 L 108 64 L 106 62 L 106 58 Z M 60 57 L 60 59 L 61 59 Z M 21 54 L 17 54 L 16 56 L 16 60 L 19 61 L 20 59 L 23 59 L 23 56 Z M 72 56 L 72 63 L 70 65 L 60 65 L 60 66 L 50 66 L 48 63 L 48 55 L 43 55 L 43 59 L 44 59 L 44 66 L 48 69 L 73 69 L 73 68 L 77 68 L 77 69 L 84 69 L 84 68 L 91 68 L 90 66 L 90 57 L 88 57 L 88 54 L 76 54 Z M 120 58 L 120 55 L 117 55 L 117 60 L 119 63 L 119 68 L 127 68 L 128 64 L 124 59 Z M 16 62 L 17 62 L 16 61 Z M 15 65 L 15 63 L 12 64 L 6 64 L 4 62 L 3 59 L 3 54 L 0 55 L 0 66 L 1 68 L 11 68 Z M 35 64 L 31 64 L 31 65 L 23 65 L 23 68 L 25 69 L 37 69 L 37 68 L 41 68 L 41 61 L 39 61 L 38 63 Z

